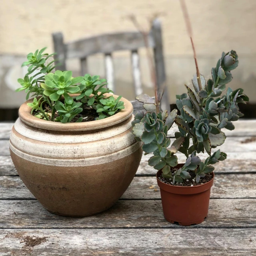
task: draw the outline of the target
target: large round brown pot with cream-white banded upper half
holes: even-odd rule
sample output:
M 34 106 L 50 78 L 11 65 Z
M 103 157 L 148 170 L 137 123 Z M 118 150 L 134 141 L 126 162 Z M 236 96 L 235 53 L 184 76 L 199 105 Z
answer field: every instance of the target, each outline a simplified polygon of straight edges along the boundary
M 114 116 L 68 124 L 32 116 L 32 100 L 20 107 L 10 134 L 11 157 L 24 184 L 50 212 L 103 212 L 132 182 L 142 143 L 132 134 L 132 104 L 121 100 L 125 108 Z

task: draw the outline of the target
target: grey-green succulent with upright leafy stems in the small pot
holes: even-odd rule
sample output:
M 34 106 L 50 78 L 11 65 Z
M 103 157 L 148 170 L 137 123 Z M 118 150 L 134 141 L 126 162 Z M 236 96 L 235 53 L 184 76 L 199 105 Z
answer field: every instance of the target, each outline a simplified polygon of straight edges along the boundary
M 228 88 L 223 94 L 226 84 L 232 80 L 230 71 L 237 66 L 238 56 L 231 50 L 222 53 L 216 67 L 212 68 L 212 78 L 207 82 L 199 72 L 200 76 L 195 74 L 192 79 L 193 88 L 185 85 L 188 93 L 176 96 L 179 115 L 176 110 L 170 114 L 157 111 L 156 106 L 159 106 L 162 95 L 155 100 L 146 94 L 137 96 L 146 112 L 136 114 L 132 122 L 133 133 L 136 140 L 144 143 L 142 149 L 145 154 L 154 155 L 148 164 L 156 170 L 162 169 L 162 176 L 172 184 L 184 182 L 192 172 L 198 183 L 201 177 L 214 170 L 213 164 L 226 159 L 227 155 L 220 150 L 212 154 L 212 148 L 222 145 L 226 139 L 221 129 L 233 130 L 232 122 L 243 115 L 239 112 L 238 103 L 249 101 L 240 88 L 234 91 Z M 176 140 L 171 144 L 167 132 L 174 122 L 179 132 L 175 132 Z M 185 154 L 187 160 L 182 168 L 173 171 L 173 167 L 178 164 L 175 156 L 178 151 Z M 202 162 L 196 153 L 205 151 L 209 157 Z

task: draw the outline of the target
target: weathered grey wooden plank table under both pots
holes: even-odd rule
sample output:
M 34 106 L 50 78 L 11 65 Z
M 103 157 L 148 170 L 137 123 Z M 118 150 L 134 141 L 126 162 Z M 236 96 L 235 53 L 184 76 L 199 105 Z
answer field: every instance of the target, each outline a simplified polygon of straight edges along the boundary
M 12 124 L 0 124 L 0 255 L 256 255 L 256 120 L 234 124 L 221 146 L 228 158 L 215 165 L 208 218 L 190 227 L 164 219 L 149 156 L 110 210 L 86 218 L 51 214 L 12 164 Z

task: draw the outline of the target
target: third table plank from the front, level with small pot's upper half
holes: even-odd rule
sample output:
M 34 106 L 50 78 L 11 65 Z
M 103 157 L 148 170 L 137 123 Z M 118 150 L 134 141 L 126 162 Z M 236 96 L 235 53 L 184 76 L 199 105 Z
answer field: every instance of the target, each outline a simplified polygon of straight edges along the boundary
M 160 199 L 155 176 L 134 177 L 121 197 L 128 199 Z M 216 174 L 211 198 L 256 198 L 256 174 Z M 0 199 L 34 199 L 18 176 L 0 176 Z

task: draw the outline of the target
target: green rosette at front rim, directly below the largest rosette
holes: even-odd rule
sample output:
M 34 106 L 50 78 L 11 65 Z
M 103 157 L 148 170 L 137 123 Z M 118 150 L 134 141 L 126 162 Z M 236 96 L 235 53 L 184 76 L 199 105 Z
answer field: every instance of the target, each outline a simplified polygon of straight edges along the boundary
M 82 105 L 81 102 L 72 102 L 71 104 L 68 104 L 65 102 L 63 104 L 61 101 L 55 102 L 55 109 L 58 110 L 59 116 L 56 118 L 57 122 L 62 123 L 69 123 L 77 114 L 81 113 L 83 111 L 80 106 Z M 82 122 L 82 116 L 78 118 L 76 122 Z

